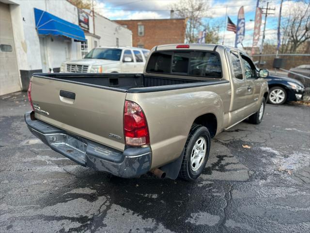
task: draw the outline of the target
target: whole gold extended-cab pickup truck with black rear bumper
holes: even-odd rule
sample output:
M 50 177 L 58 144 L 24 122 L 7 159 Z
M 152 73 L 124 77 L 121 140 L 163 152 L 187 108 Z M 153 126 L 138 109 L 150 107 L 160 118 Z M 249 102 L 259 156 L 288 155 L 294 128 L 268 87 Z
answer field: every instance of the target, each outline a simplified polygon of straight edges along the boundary
M 267 70 L 221 45 L 162 45 L 143 74 L 33 74 L 30 131 L 82 166 L 119 177 L 195 180 L 211 138 L 262 121 Z

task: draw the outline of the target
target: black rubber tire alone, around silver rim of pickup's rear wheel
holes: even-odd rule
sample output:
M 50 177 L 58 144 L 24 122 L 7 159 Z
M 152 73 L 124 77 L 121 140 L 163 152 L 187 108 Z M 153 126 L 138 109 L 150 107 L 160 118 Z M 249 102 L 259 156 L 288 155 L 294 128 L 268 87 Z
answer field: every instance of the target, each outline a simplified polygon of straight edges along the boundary
M 199 140 L 200 137 L 204 137 L 205 139 L 206 151 L 203 157 L 202 164 L 199 166 L 198 170 L 194 171 L 191 168 L 190 158 L 193 152 L 194 145 L 196 141 Z M 179 177 L 181 177 L 186 181 L 194 181 L 202 174 L 202 171 L 205 168 L 205 165 L 209 157 L 210 145 L 211 145 L 211 136 L 208 129 L 202 125 L 193 124 L 190 129 L 188 138 L 186 140 L 184 157 Z

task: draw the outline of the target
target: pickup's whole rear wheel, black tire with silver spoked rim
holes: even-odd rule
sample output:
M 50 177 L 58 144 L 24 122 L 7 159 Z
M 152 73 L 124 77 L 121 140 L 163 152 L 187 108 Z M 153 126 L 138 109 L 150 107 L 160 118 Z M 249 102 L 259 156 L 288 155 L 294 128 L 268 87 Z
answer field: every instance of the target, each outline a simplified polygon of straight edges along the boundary
M 201 174 L 210 152 L 211 136 L 208 129 L 194 124 L 189 132 L 179 176 L 194 181 Z

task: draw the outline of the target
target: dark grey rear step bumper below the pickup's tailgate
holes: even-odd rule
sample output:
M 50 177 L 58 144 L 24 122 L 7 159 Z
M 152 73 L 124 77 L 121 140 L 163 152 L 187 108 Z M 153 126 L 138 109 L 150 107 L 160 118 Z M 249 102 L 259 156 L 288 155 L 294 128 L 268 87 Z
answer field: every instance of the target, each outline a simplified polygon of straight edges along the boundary
M 151 169 L 150 147 L 115 150 L 35 119 L 34 112 L 26 113 L 25 121 L 31 133 L 52 150 L 82 166 L 124 178 L 137 177 Z

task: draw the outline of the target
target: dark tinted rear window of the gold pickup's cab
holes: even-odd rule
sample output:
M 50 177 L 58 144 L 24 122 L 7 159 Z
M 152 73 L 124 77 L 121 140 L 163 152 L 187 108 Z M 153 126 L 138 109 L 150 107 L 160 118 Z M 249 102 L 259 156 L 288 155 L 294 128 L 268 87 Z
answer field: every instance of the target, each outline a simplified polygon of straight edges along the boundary
M 163 51 L 151 55 L 146 67 L 149 73 L 221 78 L 219 56 L 203 51 Z

